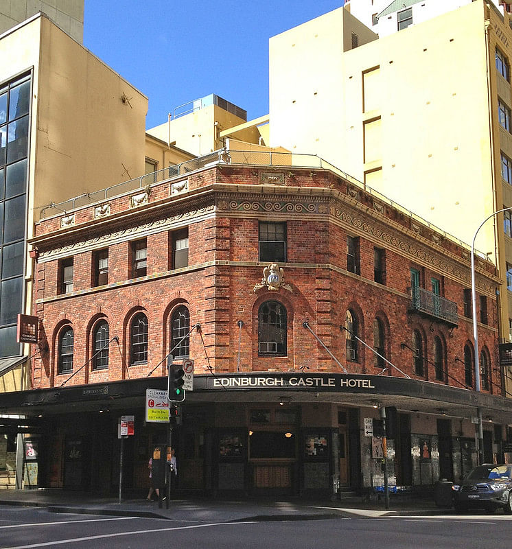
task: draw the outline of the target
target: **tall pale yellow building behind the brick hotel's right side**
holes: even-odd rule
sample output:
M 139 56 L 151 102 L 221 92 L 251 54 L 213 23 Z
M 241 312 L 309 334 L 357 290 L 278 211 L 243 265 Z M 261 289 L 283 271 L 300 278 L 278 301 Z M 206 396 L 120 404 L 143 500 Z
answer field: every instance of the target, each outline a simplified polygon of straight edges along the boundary
M 339 8 L 272 37 L 268 144 L 317 153 L 472 242 L 488 215 L 512 205 L 512 30 L 494 3 L 463 4 L 378 38 L 360 30 L 353 0 L 351 14 Z M 512 338 L 510 227 L 499 215 L 476 239 L 504 282 L 503 343 Z

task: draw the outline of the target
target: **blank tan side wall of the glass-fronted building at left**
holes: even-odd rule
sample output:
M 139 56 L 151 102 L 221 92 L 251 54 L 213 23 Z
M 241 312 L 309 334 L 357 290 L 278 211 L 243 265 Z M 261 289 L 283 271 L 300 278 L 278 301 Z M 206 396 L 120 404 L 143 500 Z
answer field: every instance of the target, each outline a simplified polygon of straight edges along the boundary
M 147 97 L 41 22 L 35 207 L 143 174 L 148 111 Z

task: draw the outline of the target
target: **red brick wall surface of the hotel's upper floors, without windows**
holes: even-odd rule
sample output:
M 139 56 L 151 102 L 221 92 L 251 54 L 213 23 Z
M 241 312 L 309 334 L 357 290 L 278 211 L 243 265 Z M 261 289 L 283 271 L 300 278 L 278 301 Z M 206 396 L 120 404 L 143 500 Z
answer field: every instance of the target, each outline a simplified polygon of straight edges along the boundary
M 220 183 L 244 183 L 257 185 L 259 175 L 257 170 L 250 168 L 222 168 L 208 170 L 197 174 L 189 180 L 189 185 L 196 188 L 211 185 L 214 181 Z M 296 174 L 286 176 L 290 185 L 307 187 L 327 187 L 336 185 L 341 191 L 346 188 L 332 174 L 323 172 L 312 174 L 310 171 L 296 171 Z M 152 200 L 165 202 L 164 186 L 160 194 L 152 193 Z M 362 193 L 362 191 L 361 191 Z M 256 197 L 258 198 L 258 197 Z M 212 199 L 213 200 L 213 199 Z M 364 194 L 360 202 L 371 203 Z M 123 211 L 127 199 L 113 200 L 115 209 Z M 90 208 L 89 208 L 90 210 Z M 87 211 L 89 211 L 87 210 Z M 144 208 L 141 211 L 145 211 Z M 90 212 L 81 212 L 81 218 L 86 220 Z M 137 220 L 137 211 L 132 211 L 130 220 Z M 154 211 L 154 217 L 163 215 L 161 209 Z M 405 225 L 402 214 L 388 212 L 393 223 Z M 395 219 L 396 218 L 396 219 Z M 65 323 L 71 323 L 75 333 L 74 369 L 85 364 L 92 354 L 91 330 L 98 318 L 106 318 L 110 327 L 110 338 L 119 337 L 119 347 L 115 342 L 110 345 L 110 363 L 107 370 L 91 371 L 91 364 L 75 375 L 69 384 L 105 382 L 106 380 L 124 379 L 126 377 L 145 377 L 158 364 L 168 349 L 170 349 L 169 322 L 172 311 L 181 303 L 185 303 L 190 311 L 190 324 L 200 323 L 200 332 L 194 331 L 190 340 L 190 355 L 196 360 L 198 372 L 207 372 L 208 366 L 217 372 L 236 371 L 238 362 L 239 327 L 237 321 L 242 320 L 242 337 L 240 344 L 241 371 L 288 371 L 308 368 L 309 371 L 336 371 L 340 368 L 334 363 L 325 349 L 321 347 L 303 323 L 307 321 L 327 347 L 345 365 L 350 373 L 376 374 L 380 369 L 373 365 L 373 353 L 359 345 L 358 362 L 349 362 L 345 357 L 345 332 L 340 331 L 340 325 L 345 325 L 345 312 L 348 308 L 356 312 L 360 325 L 360 336 L 370 346 L 373 346 L 373 319 L 380 316 L 386 326 L 386 353 L 399 369 L 411 377 L 413 373 L 412 352 L 402 349 L 401 343 L 412 346 L 412 331 L 419 329 L 424 336 L 426 358 L 433 360 L 434 336 L 439 335 L 446 344 L 447 368 L 452 377 L 464 382 L 464 366 L 455 358 L 463 360 L 463 347 L 472 340 L 472 326 L 469 320 L 463 318 L 462 296 L 465 286 L 452 280 L 443 273 L 431 270 L 427 264 L 417 264 L 407 257 L 397 253 L 397 248 L 387 247 L 386 242 L 380 242 L 353 227 L 350 231 L 340 224 L 327 222 L 327 216 L 294 215 L 290 213 L 287 220 L 288 262 L 305 264 L 306 266 L 284 266 L 284 279 L 292 286 L 292 292 L 279 289 L 277 292 L 265 288 L 253 292 L 255 283 L 261 281 L 263 264 L 255 266 L 258 261 L 258 220 L 273 220 L 270 213 L 261 213 L 257 217 L 244 218 L 243 213 L 235 217 L 218 215 L 216 218 L 191 222 L 189 224 L 189 270 L 185 272 L 170 272 L 170 231 L 167 229 L 153 235 L 148 235 L 148 277 L 137 283 L 128 280 L 129 277 L 129 243 L 112 244 L 108 248 L 109 275 L 106 288 L 91 291 L 92 253 L 78 253 L 74 259 L 73 294 L 57 295 L 58 259 L 46 261 L 38 265 L 36 277 L 37 300 L 36 310 L 43 319 L 44 334 L 47 338 L 49 351 L 43 353 L 42 359 L 34 362 L 34 383 L 38 387 L 59 385 L 66 375 L 55 375 L 56 372 L 56 338 L 59 329 Z M 278 218 L 282 220 L 282 217 Z M 384 220 L 384 218 L 382 218 Z M 141 224 L 148 221 L 148 213 L 141 218 Z M 89 219 L 91 222 L 91 219 Z M 112 220 L 114 223 L 115 220 Z M 373 222 L 378 226 L 379 221 Z M 42 222 L 38 226 L 38 234 L 49 234 L 54 229 L 55 220 Z M 396 225 L 397 226 L 397 225 Z M 89 236 L 94 227 L 84 227 Z M 382 224 L 384 232 L 389 232 L 389 226 Z M 428 231 L 430 229 L 425 229 Z M 108 233 L 108 223 L 98 226 L 97 235 Z M 360 235 L 360 276 L 347 273 L 347 234 Z M 410 234 L 409 234 L 410 237 Z M 429 253 L 425 241 L 418 241 L 418 247 Z M 41 242 L 40 247 L 49 244 Z M 57 247 L 57 244 L 55 244 Z M 385 249 L 386 255 L 386 286 L 373 283 L 373 248 Z M 445 242 L 447 251 L 463 256 L 463 250 L 452 242 Z M 104 247 L 101 246 L 101 247 Z M 98 248 L 100 249 L 100 247 Z M 426 254 L 428 255 L 428 254 Z M 194 269 L 194 266 L 216 261 L 206 268 Z M 234 261 L 240 264 L 230 265 L 225 262 Z M 251 262 L 252 265 L 243 263 Z M 333 268 L 327 267 L 333 266 Z M 420 268 L 423 285 L 430 290 L 430 278 L 441 280 L 441 294 L 447 299 L 458 303 L 459 325 L 450 327 L 432 319 L 420 318 L 408 312 L 410 299 L 410 268 Z M 491 272 L 489 266 L 485 268 Z M 469 272 L 469 266 L 467 266 Z M 447 273 L 445 273 L 447 275 Z M 286 305 L 288 312 L 288 354 L 285 357 L 260 357 L 257 348 L 258 309 L 267 299 L 277 299 Z M 489 325 L 496 326 L 498 322 L 496 301 L 489 299 Z M 143 311 L 148 316 L 149 351 L 148 364 L 128 366 L 129 362 L 129 323 L 133 314 Z M 490 327 L 479 328 L 480 348 L 484 345 L 490 351 L 491 364 L 496 369 L 497 335 Z M 422 379 L 434 381 L 434 367 L 425 363 L 426 373 Z M 159 366 L 153 375 L 164 375 L 164 366 Z M 401 375 L 391 369 L 389 375 Z M 498 372 L 493 371 L 494 382 L 499 383 Z M 450 379 L 450 384 L 461 387 L 461 383 Z M 493 393 L 499 393 L 493 386 Z

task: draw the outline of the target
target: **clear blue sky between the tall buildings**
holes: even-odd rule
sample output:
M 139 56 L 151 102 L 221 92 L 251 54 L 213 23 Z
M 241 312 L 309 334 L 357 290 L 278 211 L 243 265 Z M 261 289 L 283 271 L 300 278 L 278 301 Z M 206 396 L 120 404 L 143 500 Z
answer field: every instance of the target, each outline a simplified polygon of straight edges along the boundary
M 85 0 L 84 45 L 149 97 L 146 127 L 216 93 L 268 113 L 268 38 L 343 0 Z

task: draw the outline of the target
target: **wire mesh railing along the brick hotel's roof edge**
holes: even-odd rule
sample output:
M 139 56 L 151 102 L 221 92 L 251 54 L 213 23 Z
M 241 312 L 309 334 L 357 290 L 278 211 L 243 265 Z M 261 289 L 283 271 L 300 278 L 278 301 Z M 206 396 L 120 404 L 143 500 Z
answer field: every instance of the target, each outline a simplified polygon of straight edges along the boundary
M 158 170 L 150 174 L 145 174 L 138 178 L 124 181 L 123 183 L 117 183 L 117 185 L 111 185 L 110 187 L 106 187 L 106 189 L 102 189 L 100 191 L 84 193 L 79 196 L 69 198 L 69 200 L 65 200 L 64 202 L 58 202 L 58 204 L 51 202 L 51 204 L 46 205 L 41 209 L 40 218 L 46 219 L 54 215 L 60 215 L 60 213 L 62 212 L 69 213 L 69 211 L 77 208 L 93 204 L 101 204 L 106 200 L 129 193 L 130 191 L 137 191 L 137 189 L 151 187 L 152 185 L 158 185 L 163 181 L 180 178 L 184 174 L 196 172 L 197 170 L 202 170 L 205 167 L 216 164 L 261 165 L 329 170 L 330 172 L 333 172 L 334 174 L 349 181 L 349 183 L 355 185 L 356 187 L 360 187 L 360 189 L 366 191 L 372 196 L 375 196 L 375 198 L 378 198 L 378 200 L 381 200 L 382 202 L 393 207 L 397 211 L 400 211 L 411 220 L 428 226 L 429 229 L 432 229 L 432 231 L 439 233 L 439 235 L 441 235 L 445 239 L 455 242 L 466 250 L 471 249 L 471 246 L 469 246 L 469 244 L 466 244 L 454 235 L 450 235 L 450 233 L 443 231 L 443 229 L 440 229 L 438 226 L 428 222 L 427 220 L 421 218 L 419 215 L 404 208 L 402 205 L 399 205 L 394 200 L 391 200 L 387 196 L 384 196 L 379 191 L 376 191 L 368 185 L 365 185 L 360 180 L 354 178 L 346 172 L 343 172 L 335 165 L 321 159 L 320 156 L 316 154 L 296 154 L 292 152 L 255 150 L 244 151 L 227 149 L 216 150 L 214 152 L 206 154 L 205 156 L 199 156 L 196 159 L 187 160 L 179 164 L 165 167 L 162 170 Z M 478 252 L 478 255 L 482 259 L 487 259 L 487 256 L 484 253 Z

